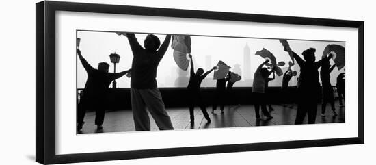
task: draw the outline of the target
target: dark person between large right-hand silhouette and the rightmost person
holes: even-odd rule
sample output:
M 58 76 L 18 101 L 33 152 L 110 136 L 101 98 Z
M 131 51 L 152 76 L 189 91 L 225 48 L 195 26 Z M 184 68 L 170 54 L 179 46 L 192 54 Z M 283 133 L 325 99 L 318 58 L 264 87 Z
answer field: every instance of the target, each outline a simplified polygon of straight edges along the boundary
M 330 67 L 329 60 L 323 61 L 323 66 L 320 69 L 320 78 L 321 78 L 321 86 L 322 86 L 322 94 L 323 94 L 323 102 L 321 104 L 321 116 L 325 116 L 325 109 L 327 103 L 330 103 L 332 107 L 332 112 L 334 116 L 337 115 L 336 107 L 334 107 L 334 95 L 333 95 L 333 87 L 330 84 L 330 73 L 333 71 L 336 65 L 334 64 Z

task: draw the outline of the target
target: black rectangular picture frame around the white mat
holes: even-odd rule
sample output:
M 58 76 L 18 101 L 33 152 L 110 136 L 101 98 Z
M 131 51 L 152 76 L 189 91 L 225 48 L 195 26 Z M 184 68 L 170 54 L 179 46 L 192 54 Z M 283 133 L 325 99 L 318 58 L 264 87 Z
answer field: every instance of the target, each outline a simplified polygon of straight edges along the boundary
M 181 147 L 170 149 L 146 149 L 137 151 L 113 151 L 56 155 L 55 153 L 55 12 L 92 12 L 107 14 L 132 14 L 140 16 L 167 16 L 176 18 L 203 18 L 222 21 L 249 21 L 258 23 L 282 23 L 291 25 L 317 25 L 328 27 L 352 27 L 358 29 L 358 136 L 288 142 L 263 142 L 229 144 L 205 147 Z M 345 21 L 324 18 L 271 16 L 146 8 L 125 5 L 71 3 L 41 1 L 36 3 L 36 162 L 60 164 L 103 160 L 126 160 L 146 157 L 167 157 L 239 151 L 323 147 L 343 144 L 364 144 L 364 21 Z

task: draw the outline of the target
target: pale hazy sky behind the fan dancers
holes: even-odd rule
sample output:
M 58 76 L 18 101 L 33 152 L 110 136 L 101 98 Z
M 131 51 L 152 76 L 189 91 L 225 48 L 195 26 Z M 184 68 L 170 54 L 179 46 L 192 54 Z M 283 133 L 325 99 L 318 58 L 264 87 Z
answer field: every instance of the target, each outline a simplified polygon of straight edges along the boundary
M 165 35 L 157 35 L 159 40 L 163 42 Z M 107 62 L 110 64 L 110 72 L 113 72 L 113 64 L 109 60 L 111 53 L 117 53 L 120 55 L 120 63 L 116 64 L 116 72 L 124 71 L 131 68 L 131 62 L 133 55 L 129 42 L 125 36 L 118 36 L 113 32 L 97 32 L 97 31 L 77 31 L 77 37 L 81 38 L 79 49 L 83 57 L 88 60 L 94 68 L 97 68 L 99 62 Z M 141 45 L 144 43 L 146 34 L 136 34 L 136 37 Z M 323 42 L 323 41 L 308 41 L 307 40 L 288 40 L 290 47 L 298 55 L 301 52 L 314 47 L 316 49 L 316 59 L 321 59 L 323 50 L 328 44 L 342 45 L 345 47 L 345 42 Z M 276 39 L 258 39 L 258 38 L 229 38 L 229 37 L 209 37 L 209 36 L 191 36 L 191 54 L 193 55 L 193 61 L 195 62 L 195 70 L 198 67 L 204 68 L 207 71 L 222 60 L 228 66 L 231 66 L 230 71 L 239 73 L 241 70 L 242 81 L 235 83 L 234 86 L 252 86 L 253 74 L 256 68 L 265 60 L 258 55 L 255 55 L 256 51 L 260 51 L 265 48 L 276 56 L 277 62 L 284 61 L 285 66 L 282 66 L 282 71 L 286 71 L 288 62 L 291 61 L 290 56 L 284 47 Z M 246 46 L 247 45 L 247 46 Z M 250 62 L 245 62 L 245 55 L 247 55 L 246 48 L 249 48 Z M 165 56 L 161 60 L 157 71 L 157 82 L 159 87 L 186 87 L 188 84 L 189 68 L 187 71 L 183 71 L 174 62 L 173 49 L 171 44 Z M 302 57 L 302 56 L 301 56 Z M 78 59 L 77 59 L 78 60 Z M 250 66 L 246 67 L 245 65 Z M 334 62 L 331 60 L 331 64 Z M 235 67 L 237 65 L 237 68 Z M 250 69 L 245 69 L 250 68 Z M 298 71 L 299 66 L 297 64 L 293 67 L 294 71 Z M 336 84 L 336 77 L 339 73 L 344 72 L 343 69 L 338 71 L 334 68 L 331 73 L 332 85 Z M 178 78 L 180 77 L 180 78 Z M 296 84 L 296 78 L 290 82 L 290 86 Z M 81 62 L 77 62 L 77 88 L 83 88 L 87 74 L 81 65 Z M 116 80 L 119 88 L 129 88 L 130 78 L 124 76 Z M 281 86 L 282 76 L 276 77 L 275 81 L 271 81 L 269 86 Z M 203 81 L 202 86 L 215 86 L 215 80 L 213 80 L 213 73 Z

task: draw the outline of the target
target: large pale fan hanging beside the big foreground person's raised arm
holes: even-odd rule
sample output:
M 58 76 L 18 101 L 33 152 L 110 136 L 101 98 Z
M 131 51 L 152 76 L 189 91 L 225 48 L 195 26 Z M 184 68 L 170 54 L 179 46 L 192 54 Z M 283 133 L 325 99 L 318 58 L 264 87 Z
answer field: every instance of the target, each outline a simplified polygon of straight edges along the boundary
M 191 53 L 191 37 L 187 35 L 172 35 L 171 47 L 174 49 L 174 60 L 179 68 L 187 71 L 189 53 Z

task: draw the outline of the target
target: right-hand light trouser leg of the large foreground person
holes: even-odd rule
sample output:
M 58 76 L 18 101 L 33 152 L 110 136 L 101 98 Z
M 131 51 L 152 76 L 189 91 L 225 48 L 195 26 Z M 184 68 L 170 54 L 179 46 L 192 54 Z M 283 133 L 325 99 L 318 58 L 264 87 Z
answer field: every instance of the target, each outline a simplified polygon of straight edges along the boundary
M 140 90 L 140 93 L 159 130 L 174 129 L 158 88 Z

